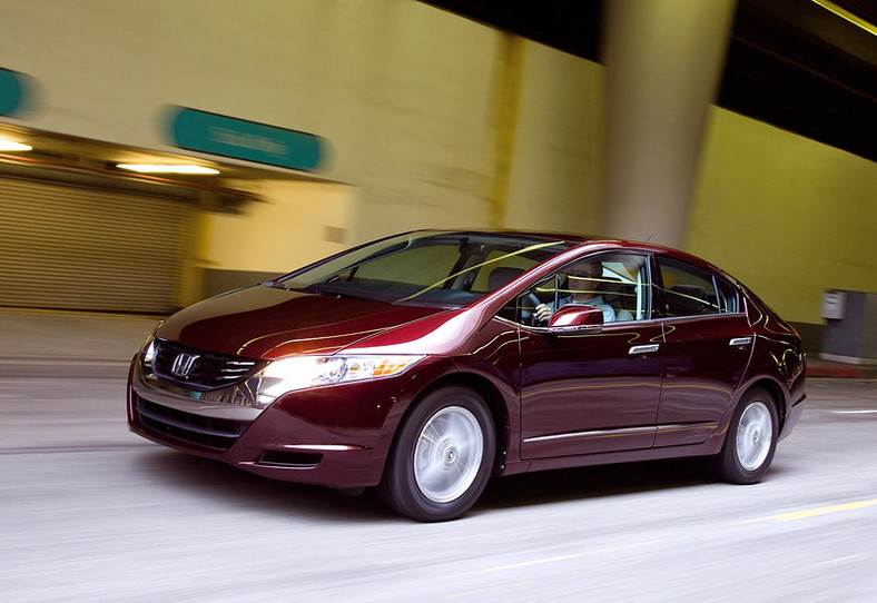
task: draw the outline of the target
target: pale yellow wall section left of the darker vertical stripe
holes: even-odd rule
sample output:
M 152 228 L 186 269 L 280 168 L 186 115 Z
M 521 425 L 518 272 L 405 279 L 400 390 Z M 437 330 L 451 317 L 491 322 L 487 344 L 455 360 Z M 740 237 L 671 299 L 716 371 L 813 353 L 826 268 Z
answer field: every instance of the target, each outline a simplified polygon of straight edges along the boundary
M 414 0 L 0 0 L 0 67 L 40 98 L 3 121 L 178 151 L 164 111 L 191 107 L 324 137 L 319 176 L 367 207 L 353 243 L 489 224 L 494 29 Z

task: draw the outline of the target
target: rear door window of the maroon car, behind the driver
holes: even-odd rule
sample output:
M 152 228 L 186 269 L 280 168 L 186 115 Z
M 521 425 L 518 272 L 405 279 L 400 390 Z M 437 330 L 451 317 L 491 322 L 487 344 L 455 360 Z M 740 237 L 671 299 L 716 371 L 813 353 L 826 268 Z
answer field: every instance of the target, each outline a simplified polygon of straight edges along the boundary
M 719 295 L 712 275 L 672 260 L 658 259 L 664 317 L 719 314 Z

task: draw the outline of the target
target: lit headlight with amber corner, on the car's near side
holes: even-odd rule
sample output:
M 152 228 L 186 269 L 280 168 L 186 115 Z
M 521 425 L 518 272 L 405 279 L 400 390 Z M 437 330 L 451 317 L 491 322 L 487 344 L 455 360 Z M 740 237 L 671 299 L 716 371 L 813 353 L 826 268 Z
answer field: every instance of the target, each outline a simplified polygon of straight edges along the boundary
M 424 356 L 294 356 L 275 360 L 259 373 L 259 402 L 273 402 L 295 389 L 335 385 L 403 373 Z

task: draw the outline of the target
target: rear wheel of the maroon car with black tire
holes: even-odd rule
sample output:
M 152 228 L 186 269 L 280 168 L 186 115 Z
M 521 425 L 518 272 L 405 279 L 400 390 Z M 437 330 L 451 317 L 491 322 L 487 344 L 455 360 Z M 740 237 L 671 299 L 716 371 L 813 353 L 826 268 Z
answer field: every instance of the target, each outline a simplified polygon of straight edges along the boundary
M 721 452 L 713 461 L 718 476 L 732 484 L 755 484 L 767 473 L 779 434 L 777 403 L 755 388 L 737 405 Z M 769 441 L 765 441 L 769 437 Z

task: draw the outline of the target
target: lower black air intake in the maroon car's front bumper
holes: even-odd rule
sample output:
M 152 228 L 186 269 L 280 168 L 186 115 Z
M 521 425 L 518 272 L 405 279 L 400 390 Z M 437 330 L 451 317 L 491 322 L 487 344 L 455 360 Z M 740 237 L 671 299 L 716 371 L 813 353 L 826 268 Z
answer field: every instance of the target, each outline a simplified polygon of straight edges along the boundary
M 140 396 L 137 396 L 137 415 L 140 425 L 157 436 L 220 452 L 231 447 L 249 427 L 246 421 L 195 415 L 154 404 Z

